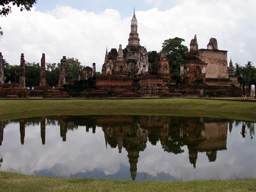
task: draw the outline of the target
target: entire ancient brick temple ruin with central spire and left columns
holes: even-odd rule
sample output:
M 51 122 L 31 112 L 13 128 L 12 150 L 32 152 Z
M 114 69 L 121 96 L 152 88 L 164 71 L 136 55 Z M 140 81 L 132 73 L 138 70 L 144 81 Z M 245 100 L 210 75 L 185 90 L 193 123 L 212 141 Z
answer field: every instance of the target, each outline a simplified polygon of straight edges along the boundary
M 219 50 L 216 38 L 210 38 L 207 49 L 199 49 L 197 35 L 190 41 L 189 57 L 181 63 L 180 82 L 169 74 L 169 61 L 164 52 L 150 53 L 140 45 L 135 10 L 131 20 L 128 44 L 123 49 L 105 52 L 101 75 L 96 65 L 84 67 L 77 80 L 68 83 L 66 56 L 60 61 L 59 81 L 55 89 L 47 86 L 45 54 L 41 57 L 40 82 L 34 91 L 1 91 L 0 97 L 180 97 L 240 96 L 240 83 L 234 75 L 232 61 L 227 65 L 227 51 Z M 0 85 L 4 84 L 3 56 L 0 53 Z M 19 88 L 25 88 L 25 60 L 20 59 Z M 19 96 L 17 96 L 19 95 Z

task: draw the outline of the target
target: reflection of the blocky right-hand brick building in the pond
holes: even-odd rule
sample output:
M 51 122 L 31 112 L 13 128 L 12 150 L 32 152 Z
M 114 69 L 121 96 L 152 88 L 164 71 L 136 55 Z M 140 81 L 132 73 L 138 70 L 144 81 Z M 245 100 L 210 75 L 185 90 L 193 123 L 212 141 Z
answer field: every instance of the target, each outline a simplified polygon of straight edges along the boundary
M 187 145 L 189 162 L 196 168 L 198 152 L 206 152 L 210 162 L 217 158 L 218 150 L 226 150 L 226 120 L 211 118 L 186 118 L 180 129 L 180 136 Z

